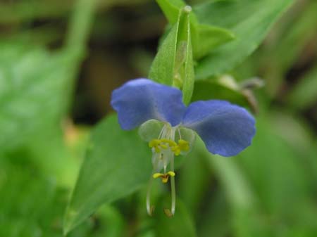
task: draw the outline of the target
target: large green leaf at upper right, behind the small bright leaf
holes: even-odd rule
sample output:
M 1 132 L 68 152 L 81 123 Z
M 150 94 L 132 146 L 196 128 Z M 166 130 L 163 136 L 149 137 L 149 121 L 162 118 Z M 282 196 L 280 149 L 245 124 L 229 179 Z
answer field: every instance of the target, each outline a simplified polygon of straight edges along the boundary
M 206 3 L 194 8 L 199 22 L 228 28 L 236 39 L 212 51 L 197 65 L 197 79 L 232 70 L 249 56 L 292 0 L 240 0 Z

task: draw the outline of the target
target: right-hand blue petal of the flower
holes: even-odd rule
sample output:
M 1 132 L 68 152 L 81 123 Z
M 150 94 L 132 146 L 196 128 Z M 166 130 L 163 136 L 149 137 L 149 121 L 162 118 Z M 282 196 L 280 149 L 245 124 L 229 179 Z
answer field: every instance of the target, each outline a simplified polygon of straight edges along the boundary
M 214 154 L 237 155 L 251 144 L 254 117 L 227 101 L 197 101 L 189 105 L 183 126 L 193 129 Z

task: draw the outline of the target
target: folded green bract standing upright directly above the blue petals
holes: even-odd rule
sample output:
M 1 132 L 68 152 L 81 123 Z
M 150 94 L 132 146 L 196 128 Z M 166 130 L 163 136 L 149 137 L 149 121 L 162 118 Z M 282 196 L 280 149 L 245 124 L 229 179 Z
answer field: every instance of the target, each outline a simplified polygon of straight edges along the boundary
M 190 11 L 187 8 L 179 11 L 178 22 L 161 44 L 149 72 L 149 78 L 154 81 L 182 89 L 186 104 L 194 89 Z

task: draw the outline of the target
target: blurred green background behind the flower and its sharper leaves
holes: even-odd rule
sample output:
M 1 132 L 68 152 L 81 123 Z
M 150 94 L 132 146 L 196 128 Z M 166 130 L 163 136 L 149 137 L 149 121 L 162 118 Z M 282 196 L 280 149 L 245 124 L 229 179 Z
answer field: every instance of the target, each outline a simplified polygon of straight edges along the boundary
M 113 89 L 147 77 L 166 24 L 150 0 L 0 1 L 1 237 L 63 236 L 90 129 L 112 113 Z M 316 237 L 316 25 L 317 1 L 294 1 L 247 60 L 209 91 L 197 82 L 194 100 L 248 106 L 257 133 L 235 158 L 185 158 L 182 217 L 146 217 L 142 190 L 68 236 Z

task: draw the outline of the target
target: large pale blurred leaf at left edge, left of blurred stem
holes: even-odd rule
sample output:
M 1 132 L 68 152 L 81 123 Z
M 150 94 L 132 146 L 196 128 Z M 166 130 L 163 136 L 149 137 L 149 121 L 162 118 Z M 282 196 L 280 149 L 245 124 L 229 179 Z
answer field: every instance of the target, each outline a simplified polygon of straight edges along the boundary
M 68 109 L 70 71 L 79 56 L 15 44 L 0 48 L 0 147 L 8 149 L 46 126 L 58 126 Z

